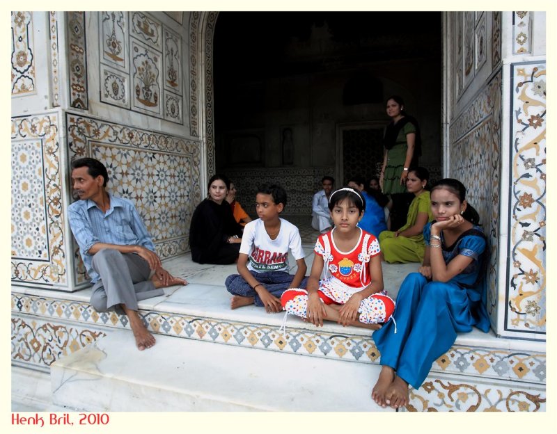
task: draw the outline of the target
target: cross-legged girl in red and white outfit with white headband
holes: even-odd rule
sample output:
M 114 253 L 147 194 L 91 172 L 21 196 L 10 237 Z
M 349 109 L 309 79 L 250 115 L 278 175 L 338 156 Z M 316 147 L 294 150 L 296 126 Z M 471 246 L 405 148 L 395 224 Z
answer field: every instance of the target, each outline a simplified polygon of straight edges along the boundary
M 391 318 L 395 303 L 383 289 L 379 241 L 356 226 L 365 209 L 359 191 L 344 187 L 331 194 L 329 210 L 335 227 L 315 243 L 307 290 L 283 293 L 281 303 L 288 314 L 315 325 L 323 325 L 326 319 L 374 329 Z

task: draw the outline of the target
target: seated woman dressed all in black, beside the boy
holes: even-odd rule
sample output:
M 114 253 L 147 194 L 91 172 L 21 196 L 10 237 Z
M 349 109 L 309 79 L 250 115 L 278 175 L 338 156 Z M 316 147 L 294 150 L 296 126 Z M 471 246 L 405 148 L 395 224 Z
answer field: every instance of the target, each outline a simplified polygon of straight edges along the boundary
M 198 264 L 233 264 L 240 253 L 242 226 L 225 198 L 230 181 L 224 175 L 209 179 L 207 199 L 198 204 L 189 226 L 191 259 Z

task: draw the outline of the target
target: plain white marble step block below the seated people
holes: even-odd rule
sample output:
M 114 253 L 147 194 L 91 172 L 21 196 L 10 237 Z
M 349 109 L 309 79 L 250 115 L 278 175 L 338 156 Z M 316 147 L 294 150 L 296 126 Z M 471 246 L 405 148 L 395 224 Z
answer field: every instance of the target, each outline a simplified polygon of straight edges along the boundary
M 393 411 L 370 398 L 380 367 L 118 330 L 51 365 L 52 402 L 87 411 Z

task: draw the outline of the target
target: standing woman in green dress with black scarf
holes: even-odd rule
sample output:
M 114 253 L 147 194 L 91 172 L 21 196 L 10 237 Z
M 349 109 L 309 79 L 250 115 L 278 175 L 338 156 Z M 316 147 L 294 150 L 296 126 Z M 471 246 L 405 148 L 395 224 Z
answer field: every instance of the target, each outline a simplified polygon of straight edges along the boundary
M 405 193 L 410 166 L 417 166 L 421 156 L 420 128 L 416 119 L 405 112 L 405 102 L 398 95 L 387 99 L 386 111 L 391 122 L 383 140 L 383 166 L 379 175 L 384 194 Z

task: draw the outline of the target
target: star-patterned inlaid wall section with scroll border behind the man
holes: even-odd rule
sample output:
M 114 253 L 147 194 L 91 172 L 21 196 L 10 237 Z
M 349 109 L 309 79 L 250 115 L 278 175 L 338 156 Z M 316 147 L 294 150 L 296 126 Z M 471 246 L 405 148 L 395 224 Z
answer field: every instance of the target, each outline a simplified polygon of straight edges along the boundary
M 134 202 L 159 255 L 189 250 L 189 220 L 201 202 L 199 143 L 71 113 L 66 123 L 70 161 L 93 156 L 107 166 L 109 191 Z

